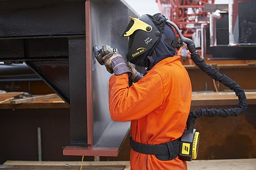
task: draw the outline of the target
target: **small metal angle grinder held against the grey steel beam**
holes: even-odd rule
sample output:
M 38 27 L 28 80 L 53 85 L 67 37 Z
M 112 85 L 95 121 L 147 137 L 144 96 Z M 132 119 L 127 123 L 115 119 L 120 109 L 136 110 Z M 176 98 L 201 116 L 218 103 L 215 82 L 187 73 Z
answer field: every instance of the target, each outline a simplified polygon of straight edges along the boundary
M 106 56 L 108 54 L 116 54 L 118 53 L 118 49 L 117 48 L 112 48 L 109 45 L 103 45 L 102 48 L 99 49 L 99 47 L 95 44 L 94 45 L 94 52 L 95 52 L 95 58 L 97 59 L 97 61 L 101 64 L 104 65 L 104 62 L 102 60 L 103 56 Z

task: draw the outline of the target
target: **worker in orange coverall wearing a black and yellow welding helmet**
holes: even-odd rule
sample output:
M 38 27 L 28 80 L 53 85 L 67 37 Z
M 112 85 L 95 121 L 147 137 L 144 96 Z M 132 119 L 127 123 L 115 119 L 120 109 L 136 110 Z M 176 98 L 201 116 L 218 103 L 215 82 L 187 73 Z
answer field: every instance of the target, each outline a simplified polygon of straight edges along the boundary
M 127 60 L 147 68 L 144 76 L 120 54 L 102 59 L 114 73 L 109 80 L 110 115 L 114 121 L 131 121 L 131 169 L 187 169 L 177 146 L 190 111 L 191 82 L 175 56 L 180 44 L 161 14 L 131 18 L 123 36 L 129 36 Z M 129 77 L 134 82 L 130 87 Z M 166 149 L 167 154 L 160 153 Z

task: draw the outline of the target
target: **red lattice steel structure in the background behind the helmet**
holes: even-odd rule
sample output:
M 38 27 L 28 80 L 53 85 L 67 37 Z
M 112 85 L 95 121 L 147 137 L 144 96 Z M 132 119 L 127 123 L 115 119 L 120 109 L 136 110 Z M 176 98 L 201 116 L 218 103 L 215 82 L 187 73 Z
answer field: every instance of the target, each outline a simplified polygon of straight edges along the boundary
M 156 0 L 161 14 L 173 21 L 186 37 L 192 37 L 194 24 L 198 17 L 206 17 L 205 4 L 214 4 L 214 0 Z

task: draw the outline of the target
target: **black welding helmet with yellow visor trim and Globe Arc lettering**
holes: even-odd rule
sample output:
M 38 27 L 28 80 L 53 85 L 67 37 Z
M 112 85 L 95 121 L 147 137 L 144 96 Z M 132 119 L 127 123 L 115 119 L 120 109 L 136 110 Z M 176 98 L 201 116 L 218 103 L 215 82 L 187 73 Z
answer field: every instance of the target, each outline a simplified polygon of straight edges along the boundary
M 167 19 L 162 14 L 143 15 L 138 19 L 130 18 L 130 23 L 122 33 L 122 36 L 129 37 L 126 54 L 129 62 L 145 67 L 146 57 L 153 53 L 160 38 L 164 38 L 174 48 L 180 47 L 180 43 L 176 40 L 169 40 L 163 34 Z

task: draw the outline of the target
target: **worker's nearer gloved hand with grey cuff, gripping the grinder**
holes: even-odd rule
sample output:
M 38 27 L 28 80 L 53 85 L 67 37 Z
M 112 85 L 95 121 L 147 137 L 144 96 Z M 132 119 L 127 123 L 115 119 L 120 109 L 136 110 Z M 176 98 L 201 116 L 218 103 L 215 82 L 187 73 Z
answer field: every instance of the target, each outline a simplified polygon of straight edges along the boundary
M 120 54 L 111 54 L 102 57 L 102 60 L 105 63 L 107 71 L 111 74 L 121 75 L 124 73 L 131 74 L 130 69 L 126 66 L 123 57 Z

